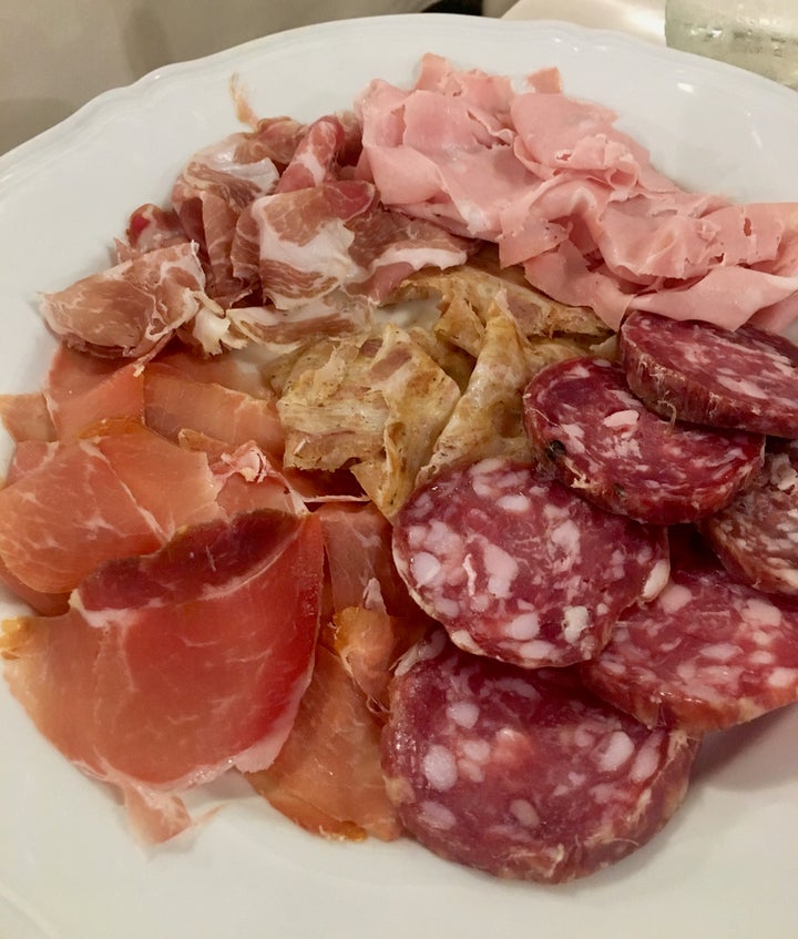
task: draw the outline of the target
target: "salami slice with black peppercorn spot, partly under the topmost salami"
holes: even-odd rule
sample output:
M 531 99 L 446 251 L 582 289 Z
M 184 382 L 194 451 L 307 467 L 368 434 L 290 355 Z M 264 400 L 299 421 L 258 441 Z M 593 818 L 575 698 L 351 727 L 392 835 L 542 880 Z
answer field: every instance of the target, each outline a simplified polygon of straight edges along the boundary
M 611 512 L 654 524 L 718 511 L 764 459 L 760 435 L 658 417 L 603 359 L 539 372 L 524 391 L 524 423 L 545 472 Z

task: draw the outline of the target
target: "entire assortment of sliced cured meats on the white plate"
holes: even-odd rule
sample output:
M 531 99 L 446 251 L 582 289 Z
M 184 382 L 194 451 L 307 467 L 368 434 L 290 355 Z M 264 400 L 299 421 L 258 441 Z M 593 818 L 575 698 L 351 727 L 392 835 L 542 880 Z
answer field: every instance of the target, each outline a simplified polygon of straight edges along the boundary
M 798 697 L 798 212 L 684 192 L 553 69 L 247 118 L 0 398 L 10 687 L 149 840 L 233 768 L 585 877 Z

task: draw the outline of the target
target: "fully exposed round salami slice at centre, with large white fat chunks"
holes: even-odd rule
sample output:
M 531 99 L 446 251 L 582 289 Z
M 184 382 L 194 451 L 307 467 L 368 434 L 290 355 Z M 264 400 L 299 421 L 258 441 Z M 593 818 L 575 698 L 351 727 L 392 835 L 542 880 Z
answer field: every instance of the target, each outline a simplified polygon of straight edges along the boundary
M 595 655 L 620 613 L 668 574 L 664 530 L 498 458 L 419 488 L 395 519 L 393 558 L 457 645 L 526 667 Z

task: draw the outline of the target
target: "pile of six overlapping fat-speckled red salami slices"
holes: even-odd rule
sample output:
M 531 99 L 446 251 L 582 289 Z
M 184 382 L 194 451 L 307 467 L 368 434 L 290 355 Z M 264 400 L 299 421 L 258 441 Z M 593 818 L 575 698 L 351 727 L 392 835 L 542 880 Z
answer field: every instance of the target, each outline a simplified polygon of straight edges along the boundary
M 620 361 L 577 355 L 529 382 L 534 463 L 442 470 L 395 520 L 397 569 L 448 637 L 397 673 L 388 793 L 421 844 L 498 876 L 559 882 L 617 859 L 675 810 L 706 733 L 798 701 L 795 443 L 766 439 L 789 418 L 764 405 L 791 406 L 795 347 L 627 325 Z M 637 336 L 687 402 L 671 420 L 631 387 Z M 722 376 L 719 426 L 706 409 L 692 422 L 700 375 Z

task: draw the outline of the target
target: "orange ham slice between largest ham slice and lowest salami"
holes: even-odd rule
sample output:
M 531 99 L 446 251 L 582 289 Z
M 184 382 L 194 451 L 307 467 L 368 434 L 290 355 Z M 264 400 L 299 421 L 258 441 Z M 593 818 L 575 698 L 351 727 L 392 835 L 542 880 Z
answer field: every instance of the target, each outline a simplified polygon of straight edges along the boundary
M 391 841 L 401 834 L 380 770 L 380 726 L 340 660 L 321 645 L 283 749 L 247 778 L 278 812 L 317 835 Z

